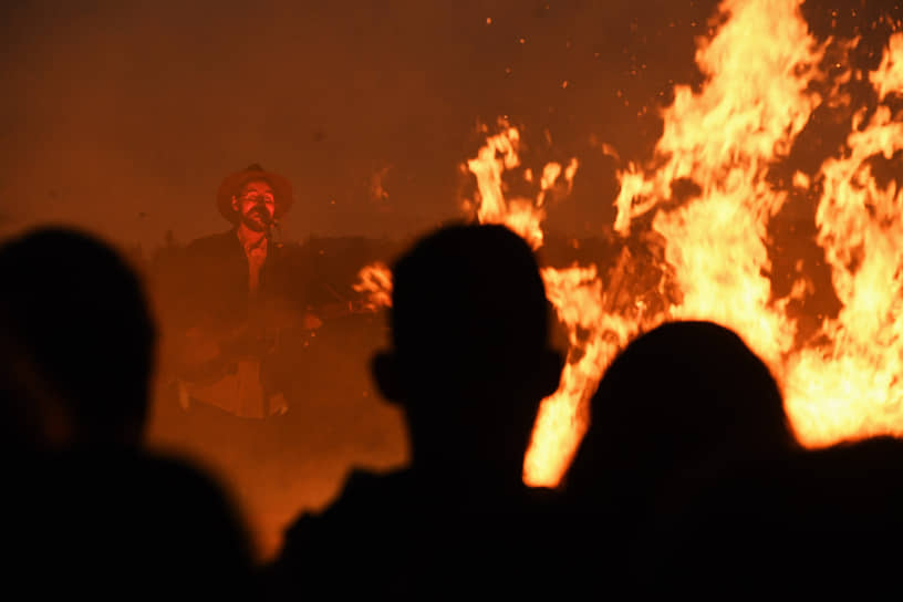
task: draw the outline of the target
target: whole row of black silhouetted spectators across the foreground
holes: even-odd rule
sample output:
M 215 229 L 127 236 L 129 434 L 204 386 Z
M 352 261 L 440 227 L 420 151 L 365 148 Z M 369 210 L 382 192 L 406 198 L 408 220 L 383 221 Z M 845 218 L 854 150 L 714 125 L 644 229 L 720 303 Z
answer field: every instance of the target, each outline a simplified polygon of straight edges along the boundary
M 562 485 L 526 487 L 563 359 L 537 258 L 502 226 L 443 227 L 393 266 L 390 342 L 371 370 L 405 416 L 411 461 L 352 471 L 266 563 L 226 487 L 145 444 L 157 324 L 126 261 L 48 227 L 7 241 L 0 273 L 10 591 L 563 598 L 893 582 L 903 442 L 802 448 L 768 367 L 710 322 L 634 339 Z

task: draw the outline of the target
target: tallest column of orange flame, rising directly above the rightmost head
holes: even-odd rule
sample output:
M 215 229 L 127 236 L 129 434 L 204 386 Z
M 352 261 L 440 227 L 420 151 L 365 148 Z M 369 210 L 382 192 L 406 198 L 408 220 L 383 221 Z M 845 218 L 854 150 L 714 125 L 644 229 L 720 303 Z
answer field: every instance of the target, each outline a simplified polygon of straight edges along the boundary
M 731 0 L 730 18 L 704 42 L 696 62 L 699 93 L 678 85 L 664 111 L 655 148 L 664 165 L 650 175 L 620 174 L 615 228 L 674 199 L 677 184 L 696 195 L 660 210 L 653 229 L 667 241 L 683 303 L 674 318 L 705 319 L 740 333 L 775 363 L 793 344 L 796 325 L 771 302 L 768 222 L 788 197 L 767 180 L 790 150 L 820 98 L 808 93 L 822 50 L 810 38 L 796 0 Z M 664 318 L 664 316 L 663 316 Z

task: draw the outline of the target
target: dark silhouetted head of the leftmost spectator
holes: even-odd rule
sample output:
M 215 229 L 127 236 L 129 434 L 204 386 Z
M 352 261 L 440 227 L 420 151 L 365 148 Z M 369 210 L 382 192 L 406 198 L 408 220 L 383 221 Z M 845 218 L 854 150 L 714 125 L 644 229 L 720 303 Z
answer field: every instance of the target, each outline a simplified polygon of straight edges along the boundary
M 91 236 L 44 228 L 0 247 L 0 328 L 28 367 L 13 388 L 63 439 L 136 443 L 155 343 L 136 274 Z

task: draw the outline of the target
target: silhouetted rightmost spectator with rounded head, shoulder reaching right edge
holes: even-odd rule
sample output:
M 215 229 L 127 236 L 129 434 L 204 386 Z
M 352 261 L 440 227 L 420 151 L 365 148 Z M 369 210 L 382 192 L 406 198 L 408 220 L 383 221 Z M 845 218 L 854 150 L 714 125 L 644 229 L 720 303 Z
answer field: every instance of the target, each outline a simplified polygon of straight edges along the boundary
M 591 412 L 559 513 L 562 533 L 592 542 L 568 554 L 577 591 L 897 589 L 903 442 L 800 448 L 767 366 L 729 330 L 677 322 L 637 338 Z

